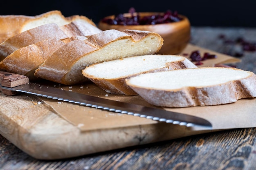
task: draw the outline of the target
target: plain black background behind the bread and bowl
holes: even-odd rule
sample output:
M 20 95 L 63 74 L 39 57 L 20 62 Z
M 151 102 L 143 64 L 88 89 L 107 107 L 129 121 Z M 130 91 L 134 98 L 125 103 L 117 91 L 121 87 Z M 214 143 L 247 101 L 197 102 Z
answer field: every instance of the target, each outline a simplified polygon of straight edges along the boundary
M 137 12 L 165 12 L 186 15 L 192 26 L 256 27 L 256 0 L 20 0 L 1 3 L 0 15 L 39 15 L 59 10 L 64 16 L 85 15 L 96 24 L 105 16 Z

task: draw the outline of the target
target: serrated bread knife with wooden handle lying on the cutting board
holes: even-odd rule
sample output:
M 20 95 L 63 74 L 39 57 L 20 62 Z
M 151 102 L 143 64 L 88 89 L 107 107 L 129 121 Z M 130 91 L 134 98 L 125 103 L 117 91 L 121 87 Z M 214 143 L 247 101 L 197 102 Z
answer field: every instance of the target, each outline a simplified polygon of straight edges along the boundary
M 26 93 L 56 100 L 62 100 L 64 102 L 85 105 L 96 109 L 139 116 L 141 118 L 148 118 L 157 120 L 159 122 L 194 127 L 195 129 L 212 129 L 211 123 L 203 118 L 173 111 L 166 111 L 164 109 L 158 109 L 154 107 L 145 107 L 142 105 L 135 105 L 86 94 L 79 94 L 55 87 L 31 83 L 29 82 L 29 78 L 27 76 L 20 74 L 0 71 L 0 90 L 5 95 L 12 96 L 18 93 Z

